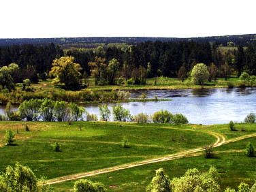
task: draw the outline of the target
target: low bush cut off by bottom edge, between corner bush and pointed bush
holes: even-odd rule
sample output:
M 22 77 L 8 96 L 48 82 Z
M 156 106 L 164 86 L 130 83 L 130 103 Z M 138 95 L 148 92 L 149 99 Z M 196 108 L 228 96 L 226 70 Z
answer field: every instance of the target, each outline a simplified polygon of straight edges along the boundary
M 80 179 L 75 182 L 74 192 L 105 192 L 106 189 L 101 182 L 91 182 L 91 180 Z

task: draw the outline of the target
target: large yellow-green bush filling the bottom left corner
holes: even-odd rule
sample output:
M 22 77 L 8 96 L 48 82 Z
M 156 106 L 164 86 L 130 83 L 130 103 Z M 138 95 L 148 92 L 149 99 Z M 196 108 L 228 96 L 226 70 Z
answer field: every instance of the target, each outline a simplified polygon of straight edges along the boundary
M 37 178 L 29 169 L 16 163 L 14 167 L 7 166 L 6 172 L 0 176 L 1 191 L 36 192 Z

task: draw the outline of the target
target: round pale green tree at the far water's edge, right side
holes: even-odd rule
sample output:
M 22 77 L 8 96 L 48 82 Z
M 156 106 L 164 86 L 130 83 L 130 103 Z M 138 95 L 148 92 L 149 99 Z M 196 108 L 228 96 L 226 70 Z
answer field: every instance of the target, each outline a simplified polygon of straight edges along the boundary
M 204 63 L 197 63 L 191 71 L 191 77 L 194 84 L 199 84 L 201 87 L 204 86 L 204 82 L 208 80 L 210 76 L 206 65 Z

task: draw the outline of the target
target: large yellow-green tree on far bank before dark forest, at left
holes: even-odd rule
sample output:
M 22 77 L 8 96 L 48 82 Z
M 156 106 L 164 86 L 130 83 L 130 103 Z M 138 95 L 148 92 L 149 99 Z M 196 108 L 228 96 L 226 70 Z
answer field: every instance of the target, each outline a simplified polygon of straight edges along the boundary
M 82 74 L 80 74 L 82 67 L 79 63 L 74 63 L 74 60 L 74 57 L 54 59 L 50 71 L 50 75 L 55 77 L 54 84 L 64 83 L 68 87 L 77 87 L 82 84 Z

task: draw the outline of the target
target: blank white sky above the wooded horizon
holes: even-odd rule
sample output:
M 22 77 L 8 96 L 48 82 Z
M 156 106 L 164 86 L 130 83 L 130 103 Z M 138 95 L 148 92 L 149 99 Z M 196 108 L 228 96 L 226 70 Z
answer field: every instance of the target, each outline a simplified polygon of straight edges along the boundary
M 0 38 L 256 33 L 255 0 L 3 0 Z

